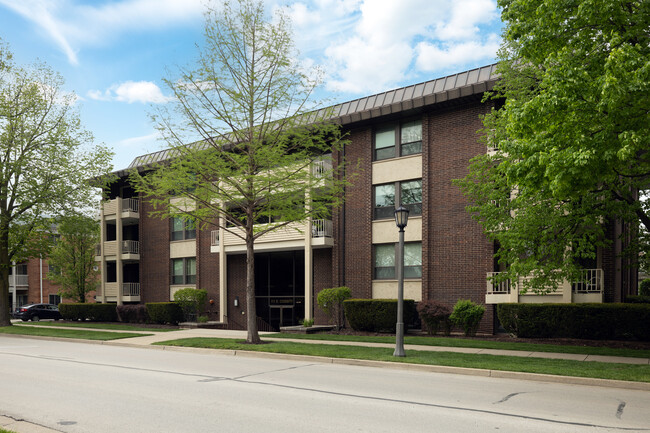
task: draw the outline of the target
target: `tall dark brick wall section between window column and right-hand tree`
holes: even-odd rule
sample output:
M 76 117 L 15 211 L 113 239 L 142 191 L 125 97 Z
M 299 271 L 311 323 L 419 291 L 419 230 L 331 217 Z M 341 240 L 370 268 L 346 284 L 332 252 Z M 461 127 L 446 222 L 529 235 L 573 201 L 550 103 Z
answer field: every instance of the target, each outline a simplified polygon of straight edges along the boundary
M 486 107 L 478 102 L 434 111 L 426 116 L 428 137 L 427 278 L 423 298 L 453 306 L 458 299 L 485 303 L 485 278 L 491 271 L 492 246 L 481 227 L 465 210 L 467 201 L 452 179 L 464 177 L 469 160 L 485 152 L 478 141 L 479 116 Z M 480 330 L 492 332 L 493 309 L 487 308 Z

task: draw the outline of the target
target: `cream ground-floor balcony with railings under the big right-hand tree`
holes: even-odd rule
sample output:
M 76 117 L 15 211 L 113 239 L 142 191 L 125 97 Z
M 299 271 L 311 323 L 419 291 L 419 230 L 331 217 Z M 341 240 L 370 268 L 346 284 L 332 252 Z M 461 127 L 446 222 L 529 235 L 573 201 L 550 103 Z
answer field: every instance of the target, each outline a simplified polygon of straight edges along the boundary
M 514 284 L 511 280 L 492 282 L 490 279 L 499 272 L 487 273 L 486 304 L 501 304 L 505 302 L 564 302 L 584 303 L 603 302 L 604 273 L 602 269 L 582 269 L 580 278 L 574 282 L 564 282 L 546 295 L 532 292 L 519 293 L 526 278 L 519 278 Z

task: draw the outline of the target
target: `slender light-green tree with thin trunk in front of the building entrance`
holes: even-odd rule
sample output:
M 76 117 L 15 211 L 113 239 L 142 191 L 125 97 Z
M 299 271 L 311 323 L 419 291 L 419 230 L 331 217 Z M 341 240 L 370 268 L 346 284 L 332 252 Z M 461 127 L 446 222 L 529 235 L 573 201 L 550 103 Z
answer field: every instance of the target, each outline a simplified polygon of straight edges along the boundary
M 155 115 L 172 159 L 131 177 L 154 215 L 222 227 L 245 241 L 249 343 L 260 342 L 255 241 L 292 222 L 322 218 L 345 184 L 342 165 L 323 163 L 342 140 L 328 113 L 314 112 L 310 102 L 320 74 L 296 58 L 281 11 L 271 19 L 252 0 L 210 7 L 196 66 L 166 81 L 174 103 Z

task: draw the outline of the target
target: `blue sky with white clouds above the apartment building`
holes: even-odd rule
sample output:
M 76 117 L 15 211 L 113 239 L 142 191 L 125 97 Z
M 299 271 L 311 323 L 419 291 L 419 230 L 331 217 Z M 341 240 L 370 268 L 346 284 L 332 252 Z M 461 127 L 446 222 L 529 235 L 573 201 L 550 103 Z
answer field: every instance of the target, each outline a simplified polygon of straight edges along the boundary
M 218 4 L 215 2 L 214 4 Z M 496 0 L 265 0 L 286 7 L 302 60 L 321 65 L 332 103 L 495 61 Z M 19 64 L 43 61 L 79 97 L 86 129 L 114 168 L 165 147 L 149 113 L 162 78 L 192 65 L 205 0 L 0 0 L 0 38 Z

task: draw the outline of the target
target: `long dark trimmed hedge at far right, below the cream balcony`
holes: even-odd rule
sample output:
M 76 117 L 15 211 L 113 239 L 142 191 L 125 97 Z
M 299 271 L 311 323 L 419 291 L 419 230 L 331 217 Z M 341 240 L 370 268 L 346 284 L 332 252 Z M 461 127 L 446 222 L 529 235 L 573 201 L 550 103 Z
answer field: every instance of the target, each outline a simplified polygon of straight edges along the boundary
M 517 337 L 650 340 L 647 304 L 499 304 L 497 314 Z

